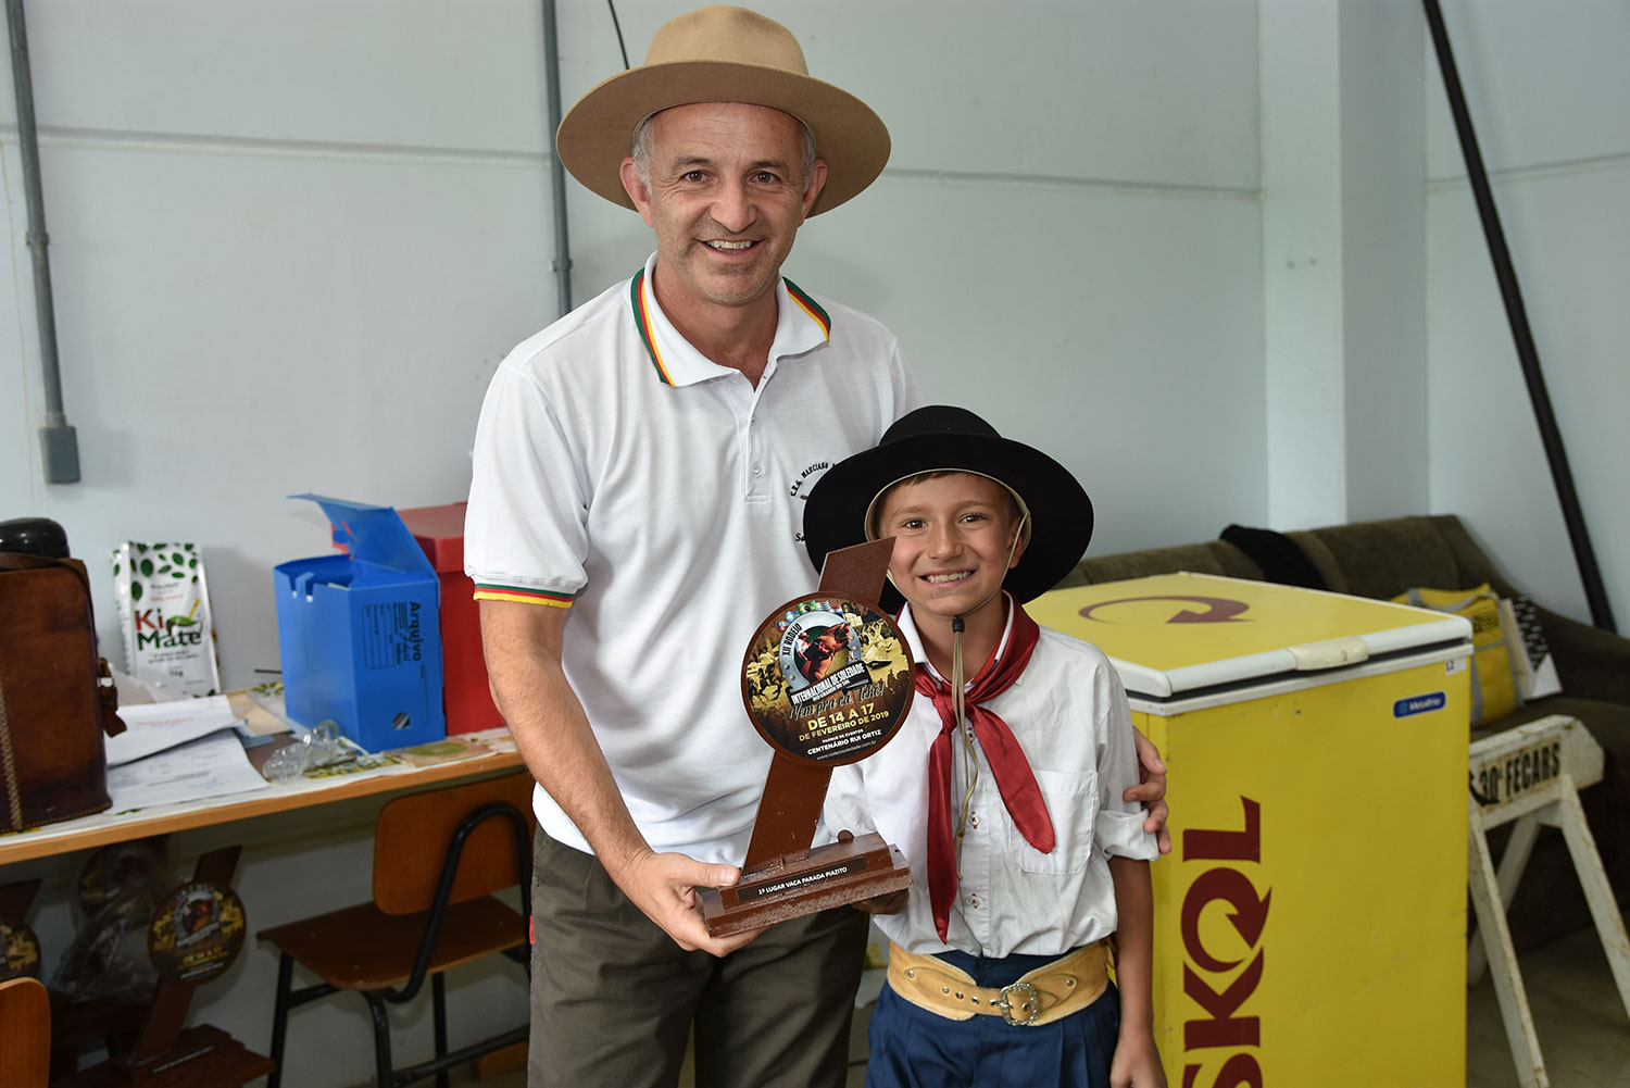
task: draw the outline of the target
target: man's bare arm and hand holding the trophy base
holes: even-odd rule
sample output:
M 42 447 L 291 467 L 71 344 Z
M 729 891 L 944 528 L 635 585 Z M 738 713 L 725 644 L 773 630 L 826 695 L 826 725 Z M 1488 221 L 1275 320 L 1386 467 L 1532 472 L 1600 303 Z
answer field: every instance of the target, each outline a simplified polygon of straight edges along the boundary
M 724 956 L 758 930 L 711 938 L 696 887 L 734 884 L 740 873 L 683 853 L 657 853 L 618 791 L 584 705 L 561 669 L 566 608 L 481 602 L 481 644 L 497 703 L 526 770 L 584 834 L 606 874 L 686 951 Z

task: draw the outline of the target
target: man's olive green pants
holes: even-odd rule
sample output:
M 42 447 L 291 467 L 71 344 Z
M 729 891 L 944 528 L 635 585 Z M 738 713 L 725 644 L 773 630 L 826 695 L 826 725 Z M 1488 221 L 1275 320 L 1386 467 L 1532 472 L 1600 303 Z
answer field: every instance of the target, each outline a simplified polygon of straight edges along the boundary
M 672 1088 L 694 1031 L 696 1085 L 841 1088 L 866 915 L 826 910 L 724 959 L 686 953 L 593 855 L 533 848 L 528 1088 Z

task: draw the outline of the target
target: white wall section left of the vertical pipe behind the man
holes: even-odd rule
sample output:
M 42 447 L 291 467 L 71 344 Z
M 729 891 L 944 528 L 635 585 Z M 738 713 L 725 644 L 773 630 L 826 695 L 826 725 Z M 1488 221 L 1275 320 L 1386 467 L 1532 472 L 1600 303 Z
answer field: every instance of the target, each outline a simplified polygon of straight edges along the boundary
M 502 354 L 554 313 L 543 42 L 525 0 L 29 3 L 64 396 L 83 481 L 41 483 L 41 385 L 16 144 L 3 140 L 0 517 L 68 530 L 121 661 L 108 551 L 205 550 L 227 682 L 277 666 L 272 564 L 326 551 L 300 491 L 461 498 Z M 7 75 L 5 86 L 10 86 Z M 10 95 L 3 119 L 13 121 Z M 15 347 L 11 347 L 15 344 Z M 244 845 L 251 930 L 367 899 L 378 803 L 173 835 L 178 876 Z M 83 855 L 29 918 L 54 964 Z M 525 1016 L 518 972 L 460 972 L 453 1039 Z M 251 943 L 196 1021 L 266 1050 L 275 959 Z M 430 1050 L 427 1000 L 396 1023 Z M 285 1083 L 372 1077 L 360 1000 L 295 1013 Z

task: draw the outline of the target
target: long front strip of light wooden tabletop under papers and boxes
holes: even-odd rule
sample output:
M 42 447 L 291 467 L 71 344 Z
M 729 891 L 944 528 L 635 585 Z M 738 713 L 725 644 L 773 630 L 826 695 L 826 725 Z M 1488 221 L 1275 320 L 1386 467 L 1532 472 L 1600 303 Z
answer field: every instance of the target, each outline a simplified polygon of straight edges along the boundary
M 396 793 L 401 789 L 422 789 L 440 783 L 509 772 L 518 767 L 522 767 L 522 759 L 517 752 L 491 752 L 487 755 L 448 760 L 429 767 L 393 763 L 350 775 L 336 775 L 333 778 L 302 778 L 293 783 L 271 783 L 267 789 L 210 798 L 207 801 L 160 804 L 127 812 L 96 812 L 93 816 L 82 816 L 77 820 L 0 834 L 0 866 L 13 861 L 88 850 L 114 842 L 147 838 L 148 835 L 228 824 L 272 812 L 289 812 L 350 798 Z

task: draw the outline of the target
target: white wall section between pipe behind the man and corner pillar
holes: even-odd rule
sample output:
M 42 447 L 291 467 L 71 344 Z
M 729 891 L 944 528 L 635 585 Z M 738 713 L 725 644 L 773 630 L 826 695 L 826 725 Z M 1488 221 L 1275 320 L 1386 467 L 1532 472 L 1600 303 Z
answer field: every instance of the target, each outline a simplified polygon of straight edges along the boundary
M 1253 3 L 758 7 L 893 137 L 882 179 L 810 220 L 787 274 L 888 323 L 931 401 L 1076 471 L 1094 553 L 1260 524 Z M 618 3 L 636 64 L 675 10 Z M 603 5 L 562 11 L 561 34 L 572 101 L 621 60 Z M 577 186 L 570 210 L 580 300 L 650 235 Z

